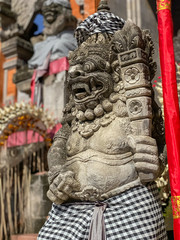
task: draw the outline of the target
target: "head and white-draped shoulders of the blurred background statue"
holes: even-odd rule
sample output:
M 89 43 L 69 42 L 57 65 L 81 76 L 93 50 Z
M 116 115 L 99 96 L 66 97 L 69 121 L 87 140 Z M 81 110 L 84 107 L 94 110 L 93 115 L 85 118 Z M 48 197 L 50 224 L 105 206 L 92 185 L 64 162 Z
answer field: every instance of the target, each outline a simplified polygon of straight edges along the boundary
M 76 18 L 72 16 L 71 6 L 65 0 L 46 0 L 42 7 L 44 16 L 44 41 L 36 43 L 34 55 L 29 60 L 30 68 L 42 66 L 50 53 L 50 61 L 68 55 L 74 50 L 76 41 L 73 37 Z

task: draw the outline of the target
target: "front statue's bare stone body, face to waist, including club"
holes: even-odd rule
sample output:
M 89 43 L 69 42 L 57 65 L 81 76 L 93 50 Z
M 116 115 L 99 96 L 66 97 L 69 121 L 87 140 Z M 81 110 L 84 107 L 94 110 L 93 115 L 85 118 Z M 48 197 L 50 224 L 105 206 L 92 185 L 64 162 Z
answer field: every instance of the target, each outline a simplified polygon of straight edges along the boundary
M 152 54 L 149 32 L 132 22 L 70 52 L 70 100 L 48 155 L 53 202 L 103 200 L 156 179 Z

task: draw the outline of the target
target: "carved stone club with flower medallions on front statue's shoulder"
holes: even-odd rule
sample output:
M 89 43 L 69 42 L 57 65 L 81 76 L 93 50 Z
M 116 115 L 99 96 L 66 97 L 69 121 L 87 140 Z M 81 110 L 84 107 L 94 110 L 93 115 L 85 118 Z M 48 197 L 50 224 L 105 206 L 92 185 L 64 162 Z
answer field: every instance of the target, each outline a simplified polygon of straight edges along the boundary
M 117 64 L 116 59 L 118 59 L 128 116 L 134 135 L 151 135 L 152 48 L 153 43 L 149 33 L 143 32 L 131 21 L 127 21 L 122 30 L 115 32 L 111 41 L 110 58 L 114 64 Z

